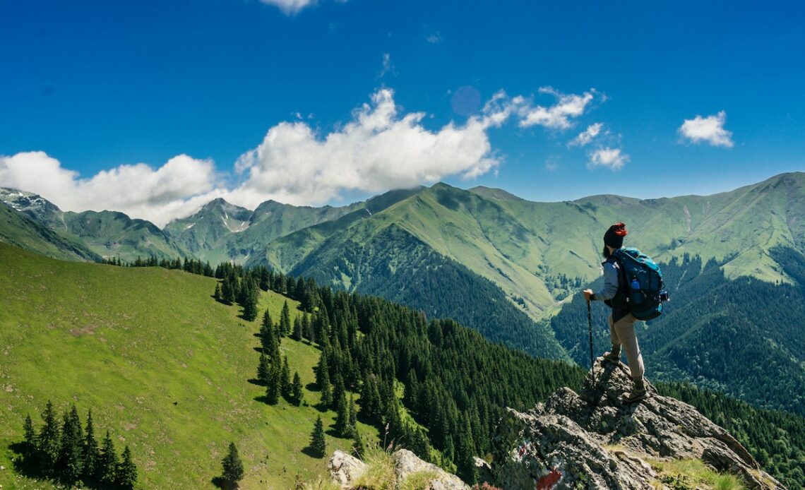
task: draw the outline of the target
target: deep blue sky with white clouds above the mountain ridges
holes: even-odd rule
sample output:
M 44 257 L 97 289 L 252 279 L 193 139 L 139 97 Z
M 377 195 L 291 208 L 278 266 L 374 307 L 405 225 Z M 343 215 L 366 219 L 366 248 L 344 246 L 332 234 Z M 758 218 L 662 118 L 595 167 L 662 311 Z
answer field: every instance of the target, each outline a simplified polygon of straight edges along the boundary
M 800 2 L 555 3 L 0 2 L 0 186 L 163 224 L 214 196 L 659 197 L 805 170 Z

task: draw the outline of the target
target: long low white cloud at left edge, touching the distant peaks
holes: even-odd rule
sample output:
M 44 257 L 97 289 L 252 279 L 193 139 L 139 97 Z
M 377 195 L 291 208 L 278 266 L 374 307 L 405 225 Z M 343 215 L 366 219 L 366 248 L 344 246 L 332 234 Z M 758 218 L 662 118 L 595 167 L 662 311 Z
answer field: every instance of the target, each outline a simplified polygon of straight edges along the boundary
M 43 151 L 0 156 L 0 185 L 31 191 L 64 211 L 125 212 L 158 226 L 186 216 L 221 195 L 214 188 L 215 169 L 209 160 L 180 154 L 154 169 L 144 163 L 121 165 L 81 179 Z

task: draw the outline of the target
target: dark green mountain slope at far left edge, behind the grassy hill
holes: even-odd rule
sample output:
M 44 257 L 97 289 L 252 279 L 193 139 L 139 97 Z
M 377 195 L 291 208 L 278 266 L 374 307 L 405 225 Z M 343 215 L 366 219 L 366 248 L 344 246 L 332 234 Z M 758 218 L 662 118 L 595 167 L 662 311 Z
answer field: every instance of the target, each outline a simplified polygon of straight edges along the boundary
M 101 261 L 81 241 L 70 240 L 0 202 L 0 242 L 69 261 Z

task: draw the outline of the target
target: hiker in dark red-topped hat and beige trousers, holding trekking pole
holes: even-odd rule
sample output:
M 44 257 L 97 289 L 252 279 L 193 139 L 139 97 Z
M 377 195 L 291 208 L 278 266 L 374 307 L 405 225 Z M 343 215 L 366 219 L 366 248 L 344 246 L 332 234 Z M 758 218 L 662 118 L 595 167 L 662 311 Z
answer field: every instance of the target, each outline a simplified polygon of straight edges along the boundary
M 584 290 L 584 299 L 588 303 L 603 301 L 612 308 L 612 312 L 609 314 L 609 339 L 612 340 L 612 348 L 604 354 L 604 360 L 611 363 L 620 362 L 621 346 L 625 348 L 634 385 L 631 393 L 623 396 L 623 401 L 634 403 L 648 395 L 646 383 L 643 380 L 645 368 L 638 337 L 634 333 L 634 323 L 638 320 L 629 312 L 629 305 L 626 303 L 628 285 L 625 284 L 621 264 L 613 257 L 615 250 L 623 246 L 623 237 L 628 233 L 626 225 L 623 223 L 613 224 L 604 233 L 603 254 L 606 260 L 601 263 L 601 266 L 604 266 L 604 288 L 597 293 L 593 293 L 591 289 Z

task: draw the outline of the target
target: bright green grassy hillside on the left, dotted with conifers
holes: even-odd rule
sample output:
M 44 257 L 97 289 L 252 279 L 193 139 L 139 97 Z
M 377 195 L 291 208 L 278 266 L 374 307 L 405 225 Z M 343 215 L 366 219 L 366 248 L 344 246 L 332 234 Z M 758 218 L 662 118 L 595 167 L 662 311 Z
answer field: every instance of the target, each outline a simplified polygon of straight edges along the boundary
M 50 399 L 59 413 L 76 403 L 82 418 L 91 407 L 96 430 L 108 428 L 118 451 L 130 446 L 142 488 L 213 488 L 231 440 L 246 466 L 245 488 L 287 488 L 297 472 L 309 479 L 325 470 L 324 459 L 301 452 L 318 410 L 254 400 L 264 393 L 247 381 L 258 362 L 258 323 L 214 302 L 213 279 L 54 261 L 6 245 L 0 265 L 6 468 L 5 447 L 21 439 L 25 414 L 39 426 Z M 279 319 L 283 301 L 265 293 L 261 309 Z M 283 350 L 291 372 L 311 383 L 316 348 L 283 340 Z M 319 395 L 306 390 L 305 399 Z M 325 427 L 333 416 L 322 414 Z M 328 450 L 348 446 L 328 437 Z

